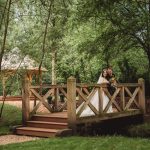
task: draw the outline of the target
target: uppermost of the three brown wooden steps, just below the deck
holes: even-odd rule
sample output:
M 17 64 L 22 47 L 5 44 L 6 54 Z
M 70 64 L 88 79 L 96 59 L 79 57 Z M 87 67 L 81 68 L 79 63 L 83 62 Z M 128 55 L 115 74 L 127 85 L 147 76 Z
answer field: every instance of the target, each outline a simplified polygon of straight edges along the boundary
M 34 115 L 34 116 L 32 116 L 31 120 L 32 121 L 67 123 L 66 116 Z

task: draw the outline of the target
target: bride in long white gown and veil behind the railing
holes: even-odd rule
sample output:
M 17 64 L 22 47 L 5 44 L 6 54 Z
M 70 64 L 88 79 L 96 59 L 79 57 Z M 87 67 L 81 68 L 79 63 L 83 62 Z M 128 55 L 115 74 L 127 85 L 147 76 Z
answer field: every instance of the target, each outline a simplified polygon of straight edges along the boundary
M 103 69 L 102 74 L 100 75 L 98 79 L 98 84 L 102 83 L 109 83 L 109 81 L 106 79 L 107 76 L 107 69 Z M 94 92 L 94 91 L 93 91 Z M 109 98 L 106 96 L 106 94 L 103 92 L 102 93 L 102 98 L 103 98 L 103 110 L 106 108 Z M 99 108 L 99 95 L 98 95 L 98 90 L 96 89 L 95 94 L 92 96 L 90 99 L 91 104 L 98 110 Z M 85 102 L 83 102 L 76 110 L 76 113 L 81 109 L 81 107 L 84 105 Z M 112 105 L 109 107 L 107 113 L 113 112 L 112 110 Z M 81 113 L 80 117 L 86 117 L 86 116 L 94 116 L 94 112 L 91 110 L 91 108 L 87 105 L 83 112 Z

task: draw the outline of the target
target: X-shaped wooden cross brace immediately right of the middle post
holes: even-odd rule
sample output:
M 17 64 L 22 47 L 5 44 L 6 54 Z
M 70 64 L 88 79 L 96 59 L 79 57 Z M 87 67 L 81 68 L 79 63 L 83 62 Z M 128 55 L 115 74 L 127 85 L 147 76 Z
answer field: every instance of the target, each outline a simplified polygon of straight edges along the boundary
M 91 110 L 95 113 L 95 115 L 98 115 L 99 112 L 96 110 L 96 108 L 90 103 L 90 97 L 87 99 L 86 96 L 80 91 L 79 88 L 76 89 L 78 94 L 83 98 L 83 100 L 85 101 L 85 103 L 83 104 L 83 106 L 81 107 L 81 109 L 77 112 L 77 116 L 79 117 L 81 115 L 81 113 L 83 112 L 83 110 L 85 109 L 85 107 L 88 105 Z M 94 91 L 96 93 L 96 90 Z M 95 94 L 93 92 L 93 95 Z M 92 95 L 91 95 L 92 97 Z

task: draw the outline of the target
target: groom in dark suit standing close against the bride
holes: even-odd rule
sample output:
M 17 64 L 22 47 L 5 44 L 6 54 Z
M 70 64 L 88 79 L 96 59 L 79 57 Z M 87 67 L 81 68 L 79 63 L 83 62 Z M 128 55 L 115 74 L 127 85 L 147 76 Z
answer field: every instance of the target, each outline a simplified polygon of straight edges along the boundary
M 114 94 L 116 87 L 114 86 L 116 83 L 115 74 L 113 73 L 112 67 L 107 67 L 107 76 L 106 79 L 109 81 L 108 91 L 111 95 Z

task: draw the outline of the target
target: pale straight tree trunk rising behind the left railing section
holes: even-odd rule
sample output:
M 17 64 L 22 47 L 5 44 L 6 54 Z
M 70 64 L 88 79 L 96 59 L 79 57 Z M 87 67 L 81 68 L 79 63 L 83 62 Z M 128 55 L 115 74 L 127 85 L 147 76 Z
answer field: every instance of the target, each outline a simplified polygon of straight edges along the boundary
M 56 84 L 56 57 L 57 57 L 57 52 L 56 49 L 52 49 L 52 84 Z

